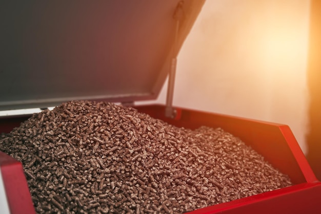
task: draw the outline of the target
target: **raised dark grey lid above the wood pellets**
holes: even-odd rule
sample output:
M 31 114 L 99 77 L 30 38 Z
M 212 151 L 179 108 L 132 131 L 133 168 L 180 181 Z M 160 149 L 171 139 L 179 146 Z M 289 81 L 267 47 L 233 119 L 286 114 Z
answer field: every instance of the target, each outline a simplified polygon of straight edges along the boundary
M 204 4 L 180 2 L 2 2 L 0 110 L 157 98 Z

